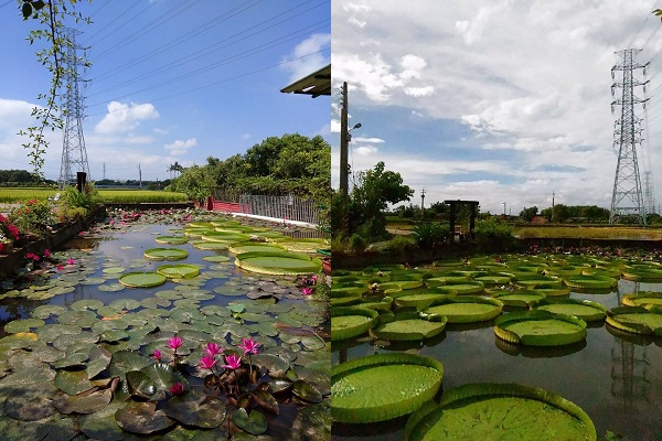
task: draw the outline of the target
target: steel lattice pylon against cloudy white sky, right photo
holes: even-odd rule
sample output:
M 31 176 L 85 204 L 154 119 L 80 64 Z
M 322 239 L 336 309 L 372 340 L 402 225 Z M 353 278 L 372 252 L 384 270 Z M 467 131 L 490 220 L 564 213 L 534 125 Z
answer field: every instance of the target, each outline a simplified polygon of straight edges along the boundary
M 618 164 L 616 178 L 613 179 L 613 194 L 611 196 L 611 213 L 609 223 L 613 224 L 622 216 L 634 216 L 640 224 L 645 225 L 645 205 L 641 192 L 641 176 L 639 175 L 639 162 L 637 160 L 637 144 L 641 144 L 641 118 L 634 115 L 634 106 L 643 104 L 647 99 L 634 96 L 634 87 L 643 86 L 648 82 L 634 78 L 634 71 L 643 69 L 645 77 L 645 65 L 634 62 L 634 55 L 641 50 L 627 49 L 616 54 L 621 58 L 620 63 L 611 67 L 611 77 L 616 71 L 622 71 L 622 82 L 611 85 L 611 95 L 615 96 L 617 87 L 622 89 L 620 98 L 611 103 L 621 106 L 621 117 L 613 125 L 613 146 L 618 147 Z

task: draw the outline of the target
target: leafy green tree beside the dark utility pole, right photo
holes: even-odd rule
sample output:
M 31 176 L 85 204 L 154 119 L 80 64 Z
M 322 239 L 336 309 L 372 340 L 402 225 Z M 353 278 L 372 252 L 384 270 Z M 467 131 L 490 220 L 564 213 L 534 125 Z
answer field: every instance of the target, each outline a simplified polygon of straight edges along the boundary
M 360 172 L 356 182 L 349 195 L 349 236 L 359 233 L 367 239 L 383 238 L 387 235 L 384 214 L 386 207 L 388 204 L 409 201 L 414 190 L 403 184 L 399 173 L 385 170 L 382 161 L 373 169 Z M 333 232 L 341 232 L 344 222 L 338 215 L 342 213 L 340 204 L 340 194 L 335 194 L 331 225 Z

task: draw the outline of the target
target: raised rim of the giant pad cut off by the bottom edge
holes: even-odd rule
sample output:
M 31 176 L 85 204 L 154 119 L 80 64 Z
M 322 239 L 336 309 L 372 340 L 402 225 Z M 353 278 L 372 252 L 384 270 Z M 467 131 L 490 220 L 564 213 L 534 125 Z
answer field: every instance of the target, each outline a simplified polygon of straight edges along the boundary
M 457 407 L 462 400 L 480 397 L 521 397 L 548 404 L 578 419 L 586 427 L 587 441 L 597 441 L 596 427 L 590 417 L 579 406 L 545 389 L 514 383 L 476 383 L 445 391 L 439 405 L 431 401 L 427 402 L 409 417 L 405 427 L 405 439 L 407 441 L 421 440 L 426 430 L 425 421 L 428 418 L 434 419 L 444 409 Z

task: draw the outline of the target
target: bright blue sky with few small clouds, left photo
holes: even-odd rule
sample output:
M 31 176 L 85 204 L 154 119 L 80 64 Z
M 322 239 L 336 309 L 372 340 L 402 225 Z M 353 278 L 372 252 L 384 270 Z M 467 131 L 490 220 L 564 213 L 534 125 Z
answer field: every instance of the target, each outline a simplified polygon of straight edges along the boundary
M 32 170 L 19 130 L 50 74 L 25 36 L 17 1 L 0 1 L 0 169 Z M 84 94 L 92 179 L 163 180 L 244 153 L 267 137 L 331 139 L 330 99 L 280 89 L 331 57 L 330 0 L 95 0 L 70 23 L 93 65 Z M 83 90 L 83 89 L 82 89 Z M 49 135 L 45 176 L 57 180 L 62 133 Z

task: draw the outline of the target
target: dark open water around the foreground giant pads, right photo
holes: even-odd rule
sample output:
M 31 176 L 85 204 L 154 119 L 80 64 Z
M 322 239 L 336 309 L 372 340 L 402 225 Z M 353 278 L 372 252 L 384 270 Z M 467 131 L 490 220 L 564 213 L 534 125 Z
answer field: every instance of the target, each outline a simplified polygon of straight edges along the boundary
M 608 309 L 626 294 L 662 291 L 662 283 L 619 281 L 610 293 L 572 293 Z M 444 364 L 444 389 L 468 383 L 520 383 L 541 387 L 575 402 L 592 419 L 598 439 L 612 431 L 630 441 L 662 440 L 662 338 L 627 334 L 602 323 L 567 347 L 531 348 L 494 336 L 493 322 L 477 329 L 447 330 L 424 344 L 381 346 L 333 343 L 332 364 L 360 356 L 406 351 Z M 406 418 L 377 424 L 335 424 L 333 440 L 404 440 Z

